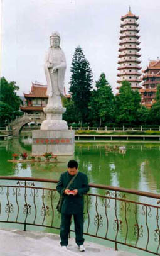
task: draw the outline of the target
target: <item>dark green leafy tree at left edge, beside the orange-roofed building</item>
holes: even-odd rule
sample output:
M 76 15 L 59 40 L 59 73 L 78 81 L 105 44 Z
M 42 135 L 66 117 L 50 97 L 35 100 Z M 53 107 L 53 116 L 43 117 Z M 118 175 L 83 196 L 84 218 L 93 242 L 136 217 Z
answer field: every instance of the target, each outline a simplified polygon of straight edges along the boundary
M 1 77 L 1 87 L 0 87 L 0 122 L 1 126 L 4 125 L 5 120 L 11 121 L 16 115 L 19 114 L 19 106 L 23 102 L 21 98 L 16 94 L 19 87 L 16 82 L 8 82 L 4 77 Z

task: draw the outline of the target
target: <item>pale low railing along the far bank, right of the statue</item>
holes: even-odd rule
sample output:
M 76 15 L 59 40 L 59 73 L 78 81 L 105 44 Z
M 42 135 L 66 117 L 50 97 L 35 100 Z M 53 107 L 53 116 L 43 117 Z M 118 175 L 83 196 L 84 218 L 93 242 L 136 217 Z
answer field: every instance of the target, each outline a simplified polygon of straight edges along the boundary
M 160 126 L 157 127 L 74 127 L 74 126 L 70 126 L 69 127 L 70 130 L 82 130 L 82 131 L 160 131 Z

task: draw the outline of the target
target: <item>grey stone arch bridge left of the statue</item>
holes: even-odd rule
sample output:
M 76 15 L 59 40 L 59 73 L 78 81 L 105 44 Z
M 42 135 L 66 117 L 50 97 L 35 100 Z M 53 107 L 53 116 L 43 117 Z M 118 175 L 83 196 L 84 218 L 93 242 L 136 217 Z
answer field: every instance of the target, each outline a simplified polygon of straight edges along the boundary
M 46 119 L 46 116 L 44 113 L 42 114 L 24 114 L 23 116 L 19 116 L 14 121 L 12 121 L 9 125 L 11 126 L 11 129 L 13 131 L 13 135 L 19 135 L 22 128 L 26 123 L 30 122 L 39 122 L 41 123 L 43 120 Z

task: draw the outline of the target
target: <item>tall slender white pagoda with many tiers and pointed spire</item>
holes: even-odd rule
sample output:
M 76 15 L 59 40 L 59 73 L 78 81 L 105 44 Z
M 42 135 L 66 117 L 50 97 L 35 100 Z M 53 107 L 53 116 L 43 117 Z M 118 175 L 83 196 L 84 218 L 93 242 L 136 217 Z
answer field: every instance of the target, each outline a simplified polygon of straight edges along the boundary
M 141 67 L 139 64 L 141 60 L 139 57 L 139 24 L 137 20 L 139 19 L 138 16 L 131 13 L 131 9 L 129 8 L 129 12 L 121 17 L 121 29 L 120 29 L 120 48 L 119 48 L 119 73 L 117 76 L 119 79 L 117 82 L 119 86 L 117 89 L 120 88 L 122 85 L 122 81 L 127 80 L 130 82 L 132 89 L 139 89 L 139 83 L 141 80 L 139 79 L 141 75 Z

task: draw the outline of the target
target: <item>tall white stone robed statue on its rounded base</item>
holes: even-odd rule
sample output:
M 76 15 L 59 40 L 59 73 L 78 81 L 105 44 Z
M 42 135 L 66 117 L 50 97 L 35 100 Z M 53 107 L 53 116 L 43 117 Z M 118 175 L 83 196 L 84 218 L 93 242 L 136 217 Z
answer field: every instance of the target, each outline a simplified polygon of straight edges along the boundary
M 62 120 L 62 114 L 66 109 L 62 106 L 61 97 L 70 96 L 65 94 L 64 79 L 67 65 L 65 54 L 60 48 L 58 32 L 50 36 L 50 45 L 45 58 L 48 104 L 43 108 L 46 120 L 41 124 L 41 130 L 67 130 L 67 122 Z

